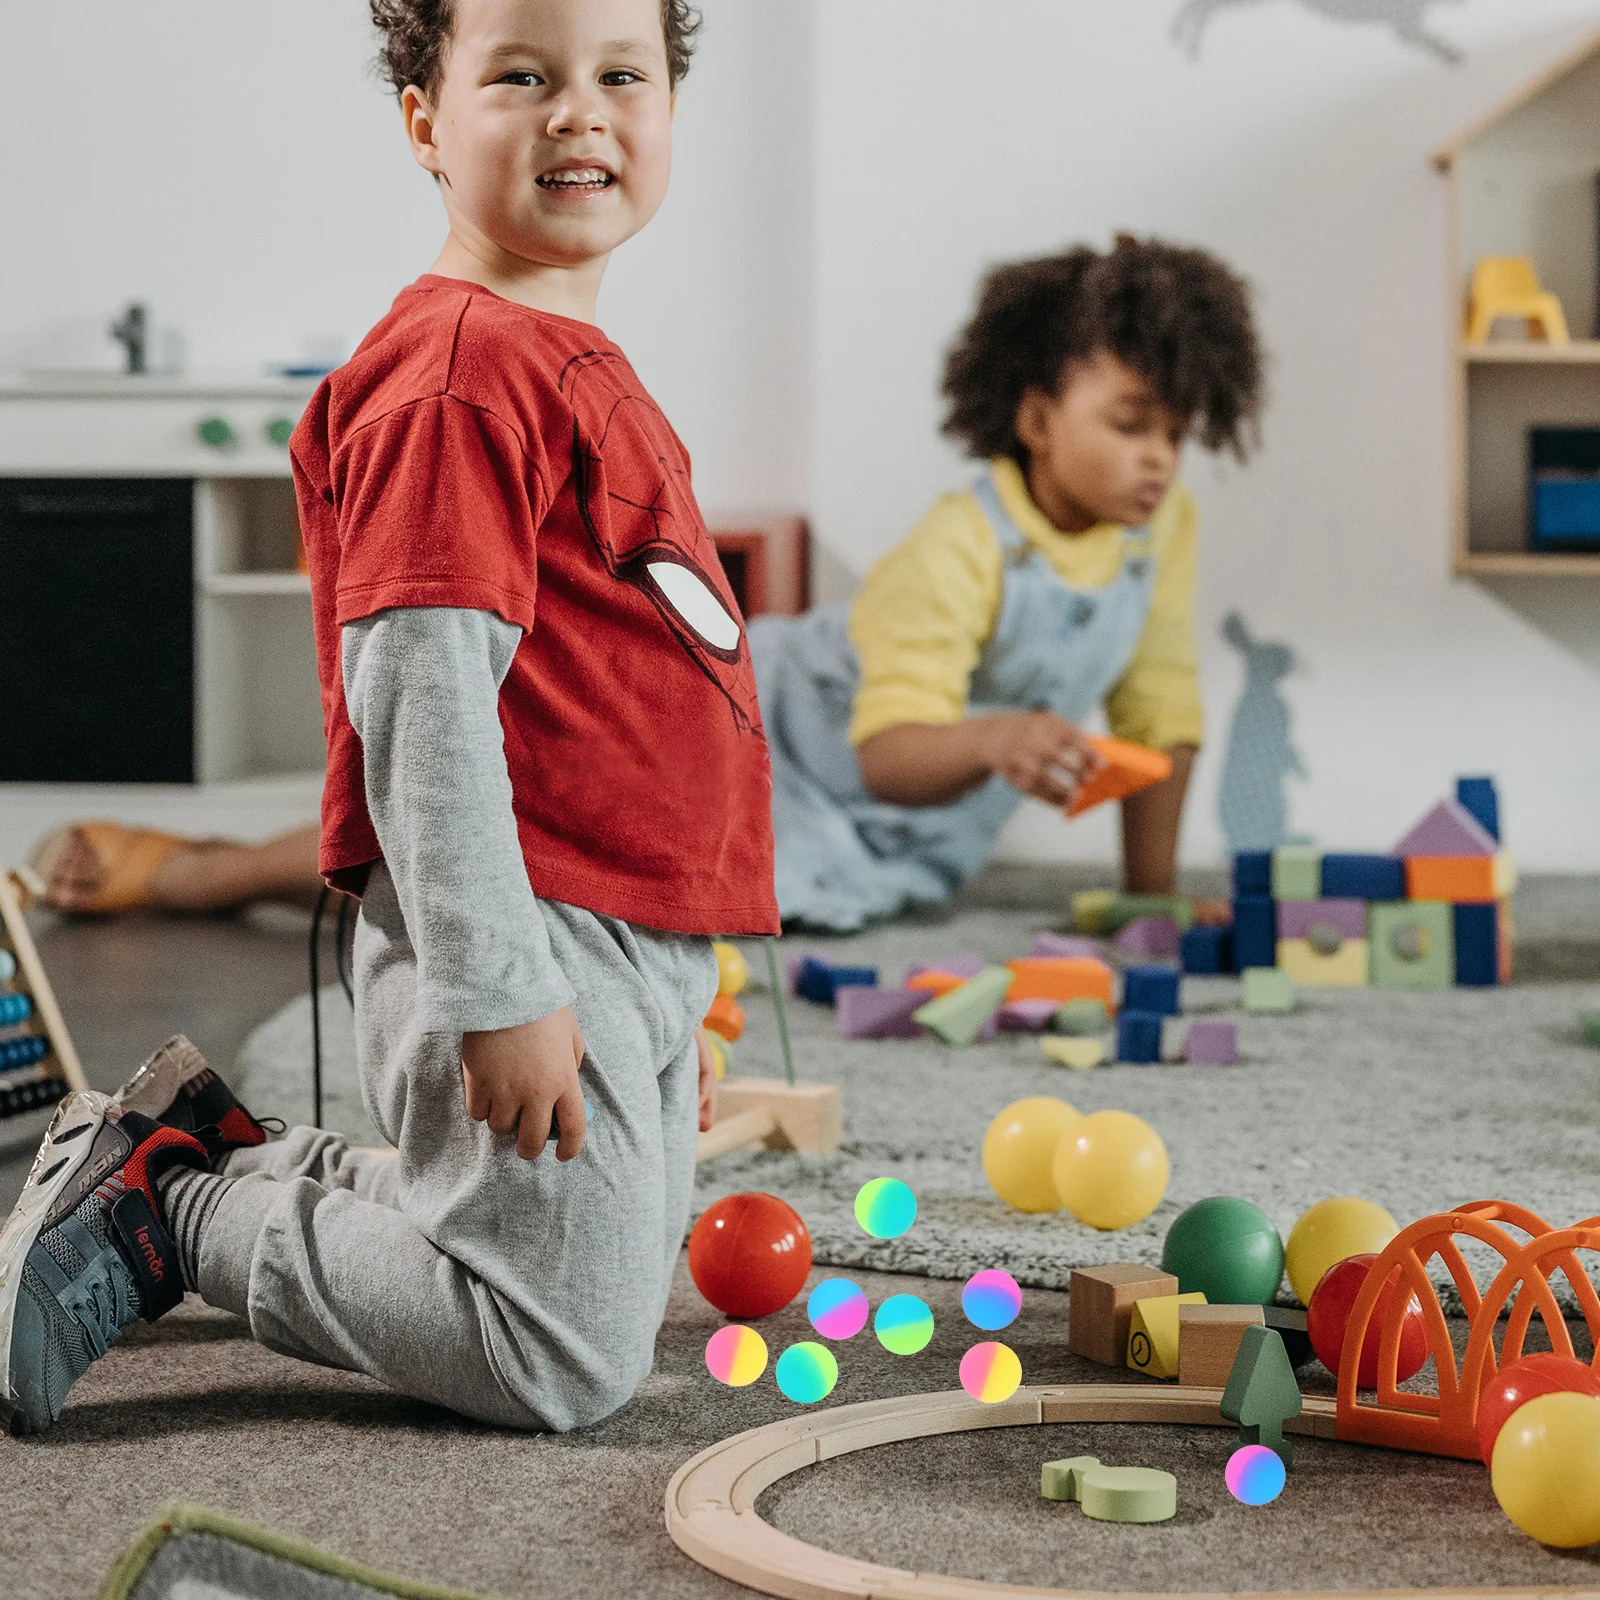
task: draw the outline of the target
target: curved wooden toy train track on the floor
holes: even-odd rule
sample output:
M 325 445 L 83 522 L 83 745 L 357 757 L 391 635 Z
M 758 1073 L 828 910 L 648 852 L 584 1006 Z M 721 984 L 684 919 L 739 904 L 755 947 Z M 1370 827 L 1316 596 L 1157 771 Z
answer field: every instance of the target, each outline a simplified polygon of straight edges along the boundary
M 992 1584 L 858 1562 L 779 1533 L 755 1512 L 779 1478 L 819 1461 L 874 1445 L 931 1438 L 986 1427 L 1045 1422 L 1178 1422 L 1232 1427 L 1219 1410 L 1221 1389 L 1155 1389 L 1147 1384 L 1058 1384 L 1019 1389 L 1000 1405 L 978 1405 L 962 1390 L 835 1406 L 725 1438 L 685 1462 L 667 1485 L 667 1533 L 685 1555 L 734 1582 L 784 1600 L 1106 1600 L 1098 1592 Z M 1331 1400 L 1307 1398 L 1288 1434 L 1334 1438 Z M 1342 1594 L 1379 1594 L 1344 1590 Z M 1594 1600 L 1600 1587 L 1573 1589 L 1386 1589 L 1384 1600 Z M 1118 1594 L 1117 1600 L 1157 1600 Z M 1166 1597 L 1162 1597 L 1166 1600 Z M 1184 1600 L 1216 1600 L 1186 1595 Z M 1290 1600 L 1251 1594 L 1251 1600 Z M 1296 1594 L 1293 1600 L 1333 1600 Z

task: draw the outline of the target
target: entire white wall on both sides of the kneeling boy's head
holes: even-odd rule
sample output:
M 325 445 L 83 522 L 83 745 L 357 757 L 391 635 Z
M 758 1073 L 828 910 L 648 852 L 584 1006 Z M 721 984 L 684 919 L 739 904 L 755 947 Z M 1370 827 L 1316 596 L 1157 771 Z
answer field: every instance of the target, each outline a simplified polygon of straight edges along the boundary
M 709 507 L 802 506 L 859 573 L 971 470 L 938 438 L 941 352 L 987 262 L 1115 227 L 1221 251 L 1261 293 L 1267 448 L 1190 464 L 1213 746 L 1190 859 L 1219 851 L 1238 606 L 1306 661 L 1298 827 L 1382 846 L 1464 768 L 1523 859 L 1600 866 L 1600 584 L 1446 578 L 1443 192 L 1427 152 L 1587 27 L 1595 0 L 1464 0 L 1445 69 L 1298 0 L 709 0 L 678 171 L 602 317 L 696 456 Z M 366 77 L 360 0 L 53 0 L 0 11 L 26 152 L 0 168 L 0 366 L 104 350 L 131 298 L 198 370 L 346 344 L 440 237 Z M 1013 853 L 1110 859 L 1106 818 Z

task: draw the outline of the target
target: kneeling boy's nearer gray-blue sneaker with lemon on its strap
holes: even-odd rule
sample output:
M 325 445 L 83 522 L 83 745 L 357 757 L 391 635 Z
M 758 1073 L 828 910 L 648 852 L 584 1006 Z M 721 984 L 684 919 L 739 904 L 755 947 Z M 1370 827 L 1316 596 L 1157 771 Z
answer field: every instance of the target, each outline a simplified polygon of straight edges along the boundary
M 206 1170 L 194 1134 L 104 1094 L 69 1094 L 0 1227 L 0 1422 L 40 1434 L 134 1318 L 184 1298 L 155 1198 L 170 1166 Z

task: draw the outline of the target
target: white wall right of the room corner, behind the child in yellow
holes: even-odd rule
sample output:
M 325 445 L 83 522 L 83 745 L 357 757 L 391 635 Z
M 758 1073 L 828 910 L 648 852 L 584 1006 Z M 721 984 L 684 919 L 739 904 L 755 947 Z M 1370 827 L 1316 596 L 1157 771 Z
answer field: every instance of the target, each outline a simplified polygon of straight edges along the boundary
M 1472 0 L 1445 69 L 1291 0 L 1221 14 L 1190 62 L 1178 0 L 821 0 L 813 509 L 861 568 L 971 470 L 936 437 L 939 358 L 987 262 L 1117 227 L 1195 242 L 1258 286 L 1267 446 L 1192 459 L 1213 742 L 1186 826 L 1216 859 L 1240 608 L 1294 645 L 1312 782 L 1293 824 L 1387 848 L 1462 770 L 1502 779 L 1526 864 L 1600 866 L 1600 584 L 1446 576 L 1443 184 L 1429 152 L 1600 22 L 1592 0 Z M 1011 854 L 1109 859 L 1112 819 L 1042 808 Z

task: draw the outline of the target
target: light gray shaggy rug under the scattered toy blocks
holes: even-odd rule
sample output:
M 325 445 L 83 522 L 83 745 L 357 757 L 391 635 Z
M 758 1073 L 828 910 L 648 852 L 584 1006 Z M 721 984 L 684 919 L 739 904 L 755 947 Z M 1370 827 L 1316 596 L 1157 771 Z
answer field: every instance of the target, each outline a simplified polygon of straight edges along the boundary
M 1557 898 L 1568 898 L 1565 888 Z M 1538 894 L 1523 914 L 1539 923 Z M 1026 954 L 1045 922 L 1038 912 L 968 907 L 941 925 L 784 947 L 877 965 L 898 982 L 909 966 L 955 952 Z M 750 955 L 760 971 L 754 947 Z M 1600 1008 L 1600 982 L 1304 990 L 1293 1016 L 1245 1016 L 1235 979 L 1202 978 L 1184 982 L 1184 1008 L 1238 1021 L 1238 1067 L 1067 1072 L 1030 1035 L 968 1050 L 845 1042 L 829 1010 L 794 1002 L 800 1075 L 843 1086 L 845 1144 L 826 1157 L 720 1157 L 702 1165 L 696 1203 L 768 1189 L 806 1219 L 819 1262 L 946 1278 L 998 1266 L 1043 1288 L 1066 1286 L 1075 1266 L 1157 1261 L 1178 1211 L 1213 1194 L 1256 1202 L 1285 1235 L 1309 1205 L 1341 1194 L 1376 1200 L 1402 1224 L 1483 1198 L 1514 1200 L 1555 1226 L 1600 1213 L 1600 1050 L 1578 1029 L 1582 1010 Z M 776 1075 L 765 989 L 746 997 L 746 1010 L 736 1070 Z M 307 1000 L 291 1002 L 240 1054 L 237 1082 L 258 1114 L 307 1115 Z M 326 1122 L 374 1139 L 354 1082 L 349 1005 L 334 990 L 323 1024 Z M 1173 1170 L 1162 1206 L 1133 1229 L 1096 1234 L 1069 1213 L 1027 1218 L 1003 1205 L 978 1152 L 995 1112 L 1030 1094 L 1152 1123 Z M 917 1227 L 901 1240 L 875 1242 L 856 1226 L 854 1194 L 877 1176 L 904 1178 L 918 1195 Z M 1488 1251 L 1472 1259 L 1475 1269 L 1494 1264 Z

